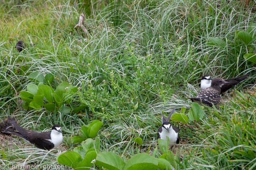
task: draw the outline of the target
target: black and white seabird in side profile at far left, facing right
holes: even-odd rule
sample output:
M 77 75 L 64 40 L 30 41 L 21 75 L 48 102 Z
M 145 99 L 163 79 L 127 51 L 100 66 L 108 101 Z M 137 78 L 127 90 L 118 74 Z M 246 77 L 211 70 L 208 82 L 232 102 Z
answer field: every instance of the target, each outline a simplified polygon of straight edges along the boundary
M 18 131 L 4 130 L 4 132 L 20 136 L 39 149 L 55 149 L 62 143 L 63 136 L 60 125 L 54 125 L 52 127 L 52 131 L 49 132 L 35 132 L 32 130 L 26 130 L 17 125 L 15 122 L 12 122 L 12 125 Z

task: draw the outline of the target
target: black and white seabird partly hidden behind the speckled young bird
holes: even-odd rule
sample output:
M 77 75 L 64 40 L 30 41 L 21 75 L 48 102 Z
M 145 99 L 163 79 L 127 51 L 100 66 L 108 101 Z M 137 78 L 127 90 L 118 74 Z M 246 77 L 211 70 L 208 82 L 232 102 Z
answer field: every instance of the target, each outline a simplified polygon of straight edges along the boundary
M 247 79 L 247 77 L 250 75 L 251 73 L 248 74 L 244 74 L 243 76 L 239 76 L 239 77 L 233 77 L 231 79 L 224 79 L 225 82 L 229 82 L 226 83 L 225 85 L 221 86 L 221 94 L 225 93 L 226 91 L 228 91 L 230 88 L 234 87 L 235 85 L 237 85 L 239 82 Z M 219 79 L 219 78 L 216 78 Z M 212 81 L 214 79 L 211 79 L 211 77 L 209 75 L 205 75 L 202 77 L 201 79 L 201 89 L 205 89 L 205 88 L 209 88 L 212 85 Z

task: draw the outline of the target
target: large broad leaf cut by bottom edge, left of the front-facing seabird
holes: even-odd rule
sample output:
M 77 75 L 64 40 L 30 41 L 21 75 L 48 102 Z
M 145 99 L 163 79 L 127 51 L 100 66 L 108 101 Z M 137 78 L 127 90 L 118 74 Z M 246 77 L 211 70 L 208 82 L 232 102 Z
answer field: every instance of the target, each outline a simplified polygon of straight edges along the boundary
M 140 153 L 133 156 L 125 164 L 124 170 L 157 170 L 158 161 L 153 156 Z

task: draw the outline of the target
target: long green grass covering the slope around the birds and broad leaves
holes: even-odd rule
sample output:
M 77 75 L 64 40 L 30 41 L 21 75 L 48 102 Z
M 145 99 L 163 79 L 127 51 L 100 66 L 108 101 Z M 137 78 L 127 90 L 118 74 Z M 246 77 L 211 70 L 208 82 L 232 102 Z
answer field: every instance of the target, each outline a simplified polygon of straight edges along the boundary
M 3 139 L 1 164 L 57 164 L 56 154 L 72 150 L 76 144 L 71 137 L 94 119 L 104 123 L 99 133 L 102 151 L 131 158 L 137 154 L 134 138 L 140 136 L 140 152 L 149 147 L 153 152 L 160 112 L 169 113 L 175 106 L 188 111 L 188 97 L 199 90 L 202 75 L 228 79 L 255 70 L 243 59 L 245 53 L 256 52 L 255 35 L 251 48 L 235 43 L 235 31 L 256 22 L 253 0 L 248 5 L 225 0 L 99 0 L 93 1 L 93 8 L 88 2 L 0 3 L 0 117 L 15 115 L 19 125 L 37 131 L 58 123 L 64 131 L 61 148 L 52 152 L 17 137 Z M 73 28 L 82 12 L 90 35 Z M 217 37 L 225 45 L 207 43 Z M 18 40 L 38 44 L 18 53 Z M 80 87 L 73 103 L 87 105 L 84 114 L 23 110 L 18 96 L 32 83 L 28 77 L 35 71 L 54 74 L 53 88 L 64 81 Z M 180 169 L 253 169 L 254 81 L 252 77 L 229 91 L 220 110 L 207 108 L 200 128 L 172 122 L 182 139 L 174 148 L 185 164 Z

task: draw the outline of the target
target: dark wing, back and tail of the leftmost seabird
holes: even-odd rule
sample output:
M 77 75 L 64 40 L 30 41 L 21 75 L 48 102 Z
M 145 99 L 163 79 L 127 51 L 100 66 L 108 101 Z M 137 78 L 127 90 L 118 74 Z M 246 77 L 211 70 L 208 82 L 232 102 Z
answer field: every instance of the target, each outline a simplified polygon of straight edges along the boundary
M 40 149 L 47 149 L 50 150 L 54 147 L 54 144 L 50 142 L 51 139 L 51 132 L 36 132 L 32 130 L 26 130 L 17 125 L 15 122 L 13 122 L 14 127 L 18 130 L 11 131 L 11 130 L 5 130 L 13 135 L 19 136 L 26 141 L 28 141 L 31 144 L 34 144 L 35 147 L 38 147 Z

